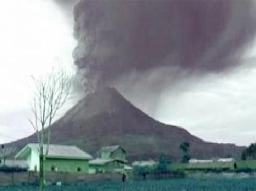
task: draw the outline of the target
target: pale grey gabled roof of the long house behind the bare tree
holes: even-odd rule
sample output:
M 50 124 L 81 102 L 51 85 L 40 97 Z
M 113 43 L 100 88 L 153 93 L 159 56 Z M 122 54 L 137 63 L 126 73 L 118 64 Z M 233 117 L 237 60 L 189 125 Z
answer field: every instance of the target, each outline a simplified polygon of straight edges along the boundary
M 44 154 L 46 153 L 47 145 L 43 145 Z M 39 152 L 38 143 L 29 143 L 22 150 L 20 150 L 15 158 L 16 159 L 26 159 L 27 155 L 31 150 Z M 49 145 L 49 151 L 47 158 L 62 158 L 62 159 L 87 159 L 91 160 L 92 156 L 83 150 L 79 149 L 73 145 Z

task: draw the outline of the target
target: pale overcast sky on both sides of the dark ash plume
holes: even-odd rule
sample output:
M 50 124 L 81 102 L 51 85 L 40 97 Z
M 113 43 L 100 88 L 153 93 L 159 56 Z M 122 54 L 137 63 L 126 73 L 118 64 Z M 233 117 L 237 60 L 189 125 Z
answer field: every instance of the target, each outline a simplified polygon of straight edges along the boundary
M 72 51 L 77 42 L 68 10 L 51 0 L 1 2 L 0 143 L 33 133 L 28 123 L 30 75 L 43 74 L 58 59 L 74 68 Z M 242 55 L 242 67 L 238 64 L 225 75 L 187 77 L 180 73 L 176 83 L 152 93 L 150 82 L 157 75 L 176 74 L 175 68 L 163 67 L 145 73 L 145 78 L 125 79 L 117 87 L 135 106 L 161 122 L 182 126 L 206 141 L 248 145 L 256 141 L 254 41 Z

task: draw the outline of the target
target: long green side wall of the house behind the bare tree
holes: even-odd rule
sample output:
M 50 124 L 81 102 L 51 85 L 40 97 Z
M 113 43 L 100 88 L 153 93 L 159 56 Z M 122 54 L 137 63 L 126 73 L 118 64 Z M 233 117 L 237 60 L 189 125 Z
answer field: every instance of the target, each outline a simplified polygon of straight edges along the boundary
M 47 158 L 44 164 L 45 171 L 56 172 L 69 172 L 69 173 L 88 173 L 89 161 L 88 160 L 75 160 L 75 159 L 54 159 Z M 53 170 L 53 168 L 55 170 Z M 80 168 L 80 171 L 78 171 Z

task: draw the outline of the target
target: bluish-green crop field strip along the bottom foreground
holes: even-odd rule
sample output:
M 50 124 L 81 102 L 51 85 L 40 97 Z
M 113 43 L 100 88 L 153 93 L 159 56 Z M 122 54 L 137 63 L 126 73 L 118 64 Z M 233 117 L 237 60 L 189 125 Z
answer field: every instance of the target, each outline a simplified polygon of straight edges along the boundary
M 0 187 L 1 191 L 36 191 L 36 186 Z M 74 185 L 49 186 L 49 191 L 108 191 L 108 190 L 147 190 L 147 191 L 251 191 L 256 190 L 255 179 L 170 179 L 127 181 L 94 181 Z

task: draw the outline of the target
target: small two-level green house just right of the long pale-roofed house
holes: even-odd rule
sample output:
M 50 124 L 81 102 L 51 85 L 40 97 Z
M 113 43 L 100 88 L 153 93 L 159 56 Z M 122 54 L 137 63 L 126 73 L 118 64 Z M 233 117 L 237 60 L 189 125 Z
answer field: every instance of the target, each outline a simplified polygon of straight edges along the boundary
M 102 147 L 98 158 L 89 161 L 90 173 L 121 172 L 131 169 L 126 165 L 126 151 L 119 145 Z

